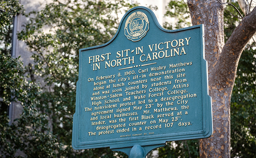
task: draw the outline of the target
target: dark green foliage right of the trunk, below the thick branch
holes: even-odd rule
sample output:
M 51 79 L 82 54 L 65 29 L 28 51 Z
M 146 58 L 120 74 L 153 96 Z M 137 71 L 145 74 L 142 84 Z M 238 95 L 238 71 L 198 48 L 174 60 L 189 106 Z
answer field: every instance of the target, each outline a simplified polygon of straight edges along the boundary
M 256 55 L 242 53 L 231 97 L 231 158 L 255 156 L 256 151 Z

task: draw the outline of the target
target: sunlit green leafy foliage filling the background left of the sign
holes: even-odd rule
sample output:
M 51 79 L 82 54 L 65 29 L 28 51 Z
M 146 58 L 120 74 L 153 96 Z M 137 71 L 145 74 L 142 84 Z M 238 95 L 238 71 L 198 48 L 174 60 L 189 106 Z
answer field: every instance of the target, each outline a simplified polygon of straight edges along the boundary
M 27 158 L 127 157 L 108 148 L 75 151 L 71 146 L 78 50 L 109 41 L 119 24 L 115 15 L 132 7 L 124 1 L 79 2 L 63 4 L 55 0 L 41 12 L 30 13 L 34 18 L 19 34 L 33 51 L 36 64 L 30 65 L 30 75 L 35 73 L 35 81 L 43 86 L 35 84 L 34 79 L 26 81 L 23 64 L 10 56 L 11 40 L 5 39 L 12 36 L 12 16 L 8 19 L 0 15 L 6 24 L 0 25 L 1 31 L 9 28 L 1 34 L 4 47 L 0 50 L 0 71 L 4 75 L 0 75 L 0 157 L 14 158 L 17 151 L 20 154 L 16 157 Z M 12 101 L 23 105 L 23 113 L 10 125 L 7 108 L 2 107 Z

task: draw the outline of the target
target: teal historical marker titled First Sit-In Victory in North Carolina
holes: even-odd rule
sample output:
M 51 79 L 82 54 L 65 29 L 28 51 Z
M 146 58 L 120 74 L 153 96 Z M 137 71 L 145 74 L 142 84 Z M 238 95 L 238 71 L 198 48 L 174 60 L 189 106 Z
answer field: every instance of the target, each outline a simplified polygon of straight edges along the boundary
M 129 10 L 111 41 L 80 49 L 73 148 L 144 157 L 211 136 L 204 56 L 203 25 L 166 30 L 150 9 Z

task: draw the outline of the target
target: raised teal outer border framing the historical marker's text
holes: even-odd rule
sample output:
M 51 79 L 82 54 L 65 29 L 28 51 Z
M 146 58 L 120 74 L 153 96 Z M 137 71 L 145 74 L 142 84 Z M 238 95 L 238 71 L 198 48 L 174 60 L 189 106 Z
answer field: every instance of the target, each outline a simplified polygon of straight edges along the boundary
M 201 36 L 203 38 L 201 38 L 201 52 L 203 52 L 201 54 L 201 71 L 202 72 L 208 72 L 207 69 L 207 61 L 205 60 L 205 52 L 204 52 L 204 26 L 201 25 L 197 25 L 197 26 L 191 26 L 188 28 L 181 28 L 181 29 L 177 29 L 177 30 L 166 30 L 164 28 L 162 28 L 162 26 L 160 26 L 160 24 L 157 21 L 157 18 L 155 16 L 155 14 L 152 12 L 152 10 L 139 6 L 139 7 L 135 7 L 132 8 L 131 10 L 129 10 L 122 18 L 119 28 L 117 30 L 117 33 L 115 34 L 115 36 L 111 39 L 111 41 L 109 41 L 108 43 L 105 43 L 103 45 L 99 45 L 99 46 L 94 46 L 94 47 L 89 47 L 89 48 L 84 48 L 84 49 L 80 49 L 79 54 L 80 54 L 80 59 L 79 62 L 82 62 L 82 56 L 83 56 L 83 51 L 86 50 L 90 50 L 90 49 L 97 49 L 97 48 L 101 48 L 101 47 L 105 47 L 107 45 L 109 45 L 112 41 L 115 40 L 116 36 L 119 34 L 119 31 L 121 29 L 121 24 L 124 21 L 124 18 L 127 16 L 127 14 L 130 14 L 132 11 L 136 10 L 136 9 L 142 9 L 142 10 L 146 10 L 147 12 L 149 12 L 151 14 L 151 16 L 153 17 L 154 22 L 156 23 L 156 26 L 158 26 L 158 28 L 164 32 L 180 32 L 183 30 L 190 30 L 190 29 L 194 29 L 194 28 L 200 28 L 201 30 Z M 79 67 L 79 79 L 81 78 L 81 74 L 82 74 L 82 67 Z M 76 150 L 79 149 L 89 149 L 89 148 L 102 148 L 102 147 L 110 147 L 111 149 L 120 149 L 120 148 L 128 148 L 128 147 L 132 147 L 135 145 L 139 145 L 139 146 L 152 146 L 152 145 L 156 145 L 156 144 L 165 144 L 167 141 L 176 141 L 176 140 L 189 140 L 189 139 L 201 139 L 201 138 L 208 138 L 211 136 L 212 132 L 213 132 L 213 126 L 212 126 L 212 109 L 209 106 L 205 106 L 205 105 L 211 105 L 211 97 L 208 95 L 208 74 L 207 73 L 202 73 L 202 93 L 203 93 L 203 130 L 202 131 L 196 131 L 196 132 L 178 132 L 178 133 L 172 133 L 172 134 L 162 134 L 160 136 L 146 136 L 146 138 L 141 137 L 141 138 L 118 138 L 118 139 L 113 139 L 111 142 L 106 142 L 106 141 L 90 141 L 90 142 L 78 142 L 78 127 L 79 127 L 79 117 L 78 117 L 78 113 L 79 113 L 79 109 L 80 109 L 80 98 L 81 98 L 81 89 L 79 88 L 81 85 L 81 79 L 78 80 L 77 82 L 77 90 L 76 90 L 76 113 L 74 113 L 74 121 L 73 121 L 73 132 L 72 132 L 72 147 Z M 207 84 L 207 85 L 205 85 Z M 209 126 L 206 126 L 209 125 Z M 106 136 L 107 138 L 107 136 Z M 119 150 L 120 151 L 120 150 Z

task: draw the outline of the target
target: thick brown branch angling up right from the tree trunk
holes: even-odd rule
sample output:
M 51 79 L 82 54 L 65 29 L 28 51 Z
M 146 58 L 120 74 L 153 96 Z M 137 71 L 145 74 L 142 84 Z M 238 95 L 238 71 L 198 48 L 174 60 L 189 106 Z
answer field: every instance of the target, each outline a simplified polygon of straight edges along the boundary
M 244 17 L 225 43 L 215 71 L 214 82 L 216 84 L 221 84 L 224 88 L 233 88 L 240 56 L 255 33 L 256 7 Z

